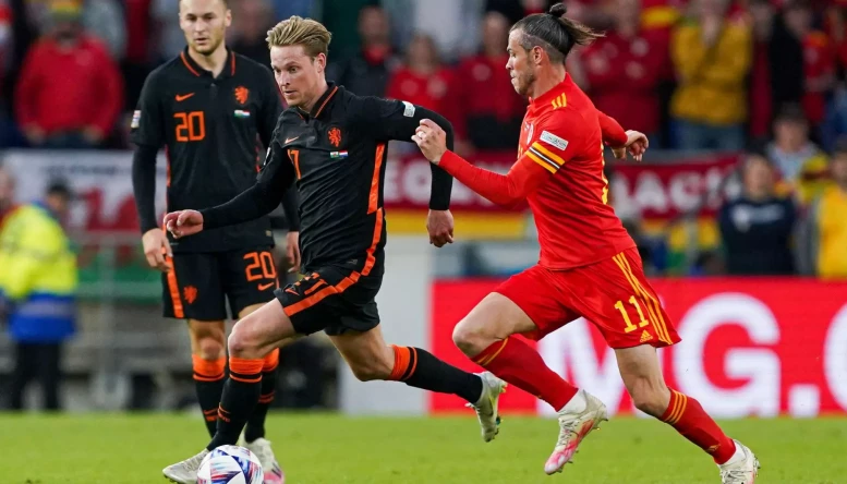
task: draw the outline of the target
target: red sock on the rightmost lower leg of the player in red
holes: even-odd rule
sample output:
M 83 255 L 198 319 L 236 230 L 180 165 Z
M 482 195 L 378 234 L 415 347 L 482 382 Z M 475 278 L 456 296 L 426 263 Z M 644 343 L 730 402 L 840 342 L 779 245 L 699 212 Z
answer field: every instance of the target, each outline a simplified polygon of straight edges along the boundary
M 700 402 L 691 397 L 671 389 L 670 403 L 661 420 L 710 453 L 715 463 L 722 464 L 735 453 L 735 441 L 724 434 Z

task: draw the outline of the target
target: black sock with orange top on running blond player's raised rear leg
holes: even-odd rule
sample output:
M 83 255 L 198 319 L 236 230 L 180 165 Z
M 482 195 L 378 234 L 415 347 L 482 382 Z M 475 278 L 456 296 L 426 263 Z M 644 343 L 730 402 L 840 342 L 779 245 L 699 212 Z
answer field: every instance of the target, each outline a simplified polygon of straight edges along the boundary
M 426 350 L 394 347 L 395 370 L 390 379 L 439 394 L 453 394 L 476 403 L 482 396 L 482 378 L 433 356 Z

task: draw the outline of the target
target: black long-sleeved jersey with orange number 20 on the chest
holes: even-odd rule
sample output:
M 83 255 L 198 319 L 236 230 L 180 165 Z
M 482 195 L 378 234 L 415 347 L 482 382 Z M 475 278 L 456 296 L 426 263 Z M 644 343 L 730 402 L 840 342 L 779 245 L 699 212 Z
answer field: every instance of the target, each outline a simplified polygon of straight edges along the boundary
M 168 158 L 168 210 L 210 207 L 250 187 L 258 170 L 257 137 L 267 147 L 282 111 L 274 75 L 232 51 L 222 72 L 197 65 L 184 50 L 145 81 L 132 121 L 138 145 L 133 186 L 143 232 L 156 228 L 156 153 Z M 222 252 L 270 245 L 267 217 L 176 242 L 176 252 Z

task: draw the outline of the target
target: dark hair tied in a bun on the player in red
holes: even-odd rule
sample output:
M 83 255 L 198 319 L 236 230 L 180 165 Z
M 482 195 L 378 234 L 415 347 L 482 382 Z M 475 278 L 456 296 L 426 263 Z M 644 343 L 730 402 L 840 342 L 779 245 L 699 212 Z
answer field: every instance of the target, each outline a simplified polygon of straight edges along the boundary
M 552 62 L 565 63 L 574 46 L 588 46 L 604 36 L 601 32 L 566 17 L 567 12 L 568 8 L 564 3 L 556 3 L 547 13 L 521 19 L 509 32 L 522 32 L 521 47 L 525 50 L 537 46 L 547 52 Z

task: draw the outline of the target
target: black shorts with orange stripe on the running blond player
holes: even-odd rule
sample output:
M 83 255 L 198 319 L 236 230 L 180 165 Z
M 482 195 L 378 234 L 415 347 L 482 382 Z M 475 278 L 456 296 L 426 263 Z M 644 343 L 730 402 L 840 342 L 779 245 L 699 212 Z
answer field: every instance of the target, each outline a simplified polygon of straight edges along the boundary
M 367 331 L 379 324 L 376 293 L 383 283 L 382 256 L 370 270 L 324 266 L 303 279 L 277 289 L 275 294 L 291 318 L 294 330 L 329 336 Z

